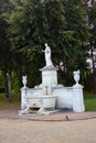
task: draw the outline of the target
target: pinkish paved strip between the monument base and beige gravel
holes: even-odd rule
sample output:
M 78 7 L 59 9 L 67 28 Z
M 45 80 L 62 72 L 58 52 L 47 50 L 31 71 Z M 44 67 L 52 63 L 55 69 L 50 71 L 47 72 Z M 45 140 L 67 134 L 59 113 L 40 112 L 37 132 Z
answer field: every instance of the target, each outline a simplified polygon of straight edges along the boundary
M 19 119 L 31 121 L 74 121 L 74 120 L 87 120 L 96 118 L 96 112 L 71 112 L 61 111 L 49 116 L 39 114 L 21 114 L 19 116 L 19 109 L 0 110 L 0 119 Z

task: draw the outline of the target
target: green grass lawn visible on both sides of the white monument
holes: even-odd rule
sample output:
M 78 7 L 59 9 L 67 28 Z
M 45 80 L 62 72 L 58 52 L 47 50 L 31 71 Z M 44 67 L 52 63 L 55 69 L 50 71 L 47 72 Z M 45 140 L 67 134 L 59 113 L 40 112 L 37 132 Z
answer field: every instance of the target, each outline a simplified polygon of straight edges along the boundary
M 20 108 L 20 94 L 12 95 L 12 102 L 9 102 L 4 94 L 0 94 L 0 110 Z M 96 94 L 84 92 L 85 111 L 96 111 Z

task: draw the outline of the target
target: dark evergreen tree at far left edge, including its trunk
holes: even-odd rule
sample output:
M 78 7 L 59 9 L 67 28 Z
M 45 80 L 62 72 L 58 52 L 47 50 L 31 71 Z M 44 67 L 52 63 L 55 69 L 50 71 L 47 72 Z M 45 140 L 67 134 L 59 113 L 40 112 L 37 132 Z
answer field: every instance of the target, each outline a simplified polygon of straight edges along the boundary
M 12 52 L 10 51 L 10 42 L 8 40 L 8 23 L 2 14 L 11 9 L 9 0 L 0 1 L 0 70 L 4 78 L 4 89 L 7 98 L 11 101 L 11 69 L 12 69 Z

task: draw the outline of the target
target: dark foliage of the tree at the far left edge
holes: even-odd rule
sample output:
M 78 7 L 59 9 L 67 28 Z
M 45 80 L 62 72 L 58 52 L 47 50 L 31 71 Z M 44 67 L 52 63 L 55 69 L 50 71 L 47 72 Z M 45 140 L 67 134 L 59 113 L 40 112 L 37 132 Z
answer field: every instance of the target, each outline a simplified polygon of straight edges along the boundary
M 10 51 L 10 42 L 8 38 L 8 23 L 3 19 L 3 13 L 9 12 L 11 10 L 9 0 L 1 0 L 0 1 L 0 69 L 10 68 L 13 62 L 12 59 L 12 52 Z M 4 58 L 3 58 L 4 57 Z

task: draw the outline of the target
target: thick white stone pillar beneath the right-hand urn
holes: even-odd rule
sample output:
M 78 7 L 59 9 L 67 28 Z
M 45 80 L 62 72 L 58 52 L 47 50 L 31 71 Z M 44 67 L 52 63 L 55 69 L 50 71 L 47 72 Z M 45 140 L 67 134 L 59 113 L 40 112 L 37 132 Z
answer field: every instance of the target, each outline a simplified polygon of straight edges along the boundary
M 73 111 L 74 112 L 85 111 L 83 99 L 83 86 L 79 84 L 73 86 Z

